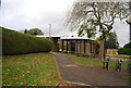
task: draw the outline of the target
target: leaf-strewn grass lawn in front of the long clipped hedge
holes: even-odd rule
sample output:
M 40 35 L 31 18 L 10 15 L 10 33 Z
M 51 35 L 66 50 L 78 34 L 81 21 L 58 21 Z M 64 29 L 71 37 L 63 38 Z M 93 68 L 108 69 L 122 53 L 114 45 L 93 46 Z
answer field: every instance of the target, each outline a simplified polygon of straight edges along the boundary
M 2 58 L 3 86 L 55 86 L 60 80 L 51 53 Z

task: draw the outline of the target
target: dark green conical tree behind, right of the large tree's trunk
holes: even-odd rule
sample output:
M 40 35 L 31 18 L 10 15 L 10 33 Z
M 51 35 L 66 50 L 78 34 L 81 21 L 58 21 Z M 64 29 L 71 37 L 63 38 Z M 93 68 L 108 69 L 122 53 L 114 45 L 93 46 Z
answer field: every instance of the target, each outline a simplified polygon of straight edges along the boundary
M 115 32 L 110 32 L 106 37 L 105 49 L 118 49 L 118 47 L 119 42 L 117 39 L 117 35 Z

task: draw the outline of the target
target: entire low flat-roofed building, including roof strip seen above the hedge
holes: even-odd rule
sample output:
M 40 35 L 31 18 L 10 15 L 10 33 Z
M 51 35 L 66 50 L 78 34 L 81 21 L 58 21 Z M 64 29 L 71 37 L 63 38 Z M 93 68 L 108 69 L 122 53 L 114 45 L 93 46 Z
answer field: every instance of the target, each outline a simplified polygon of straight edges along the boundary
M 49 38 L 49 36 L 37 36 Z M 94 40 L 85 37 L 63 37 L 63 36 L 51 36 L 53 42 L 53 51 L 58 52 L 73 52 L 73 53 L 95 53 L 95 48 L 93 45 Z

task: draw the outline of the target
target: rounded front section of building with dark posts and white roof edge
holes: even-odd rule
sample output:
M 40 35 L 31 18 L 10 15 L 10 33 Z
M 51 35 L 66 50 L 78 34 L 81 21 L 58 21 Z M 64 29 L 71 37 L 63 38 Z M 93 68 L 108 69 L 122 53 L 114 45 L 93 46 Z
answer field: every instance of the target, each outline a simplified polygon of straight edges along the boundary
M 93 40 L 84 37 L 61 37 L 61 49 L 63 52 L 94 53 Z

